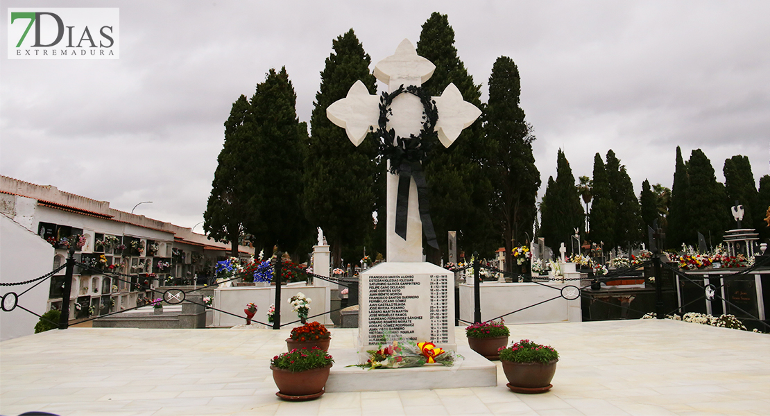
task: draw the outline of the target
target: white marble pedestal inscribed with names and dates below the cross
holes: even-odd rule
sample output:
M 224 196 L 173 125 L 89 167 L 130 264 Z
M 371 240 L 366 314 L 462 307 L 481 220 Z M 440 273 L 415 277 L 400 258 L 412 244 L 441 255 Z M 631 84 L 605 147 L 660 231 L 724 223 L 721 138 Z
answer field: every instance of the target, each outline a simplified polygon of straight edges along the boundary
M 454 311 L 452 272 L 430 263 L 388 261 L 364 271 L 360 279 L 362 358 L 388 334 L 457 351 L 450 313 Z

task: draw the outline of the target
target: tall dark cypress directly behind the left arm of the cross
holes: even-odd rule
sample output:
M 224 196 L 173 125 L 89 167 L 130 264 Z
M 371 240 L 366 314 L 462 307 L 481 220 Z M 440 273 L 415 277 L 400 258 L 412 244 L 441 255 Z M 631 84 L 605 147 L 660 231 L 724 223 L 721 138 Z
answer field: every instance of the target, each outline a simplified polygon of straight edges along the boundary
M 331 245 L 333 259 L 339 265 L 343 251 L 362 245 L 373 228 L 372 212 L 384 208 L 383 168 L 377 167 L 377 142 L 367 137 L 354 146 L 343 128 L 326 118 L 326 108 L 345 98 L 350 87 L 360 80 L 371 94 L 377 91 L 369 72 L 371 58 L 363 50 L 353 29 L 332 42 L 333 52 L 326 58 L 321 85 L 310 116 L 310 141 L 305 158 L 305 198 L 303 207 L 310 224 L 320 226 Z M 385 212 L 380 209 L 380 226 Z M 380 251 L 385 251 L 384 241 Z M 370 248 L 370 253 L 373 248 Z

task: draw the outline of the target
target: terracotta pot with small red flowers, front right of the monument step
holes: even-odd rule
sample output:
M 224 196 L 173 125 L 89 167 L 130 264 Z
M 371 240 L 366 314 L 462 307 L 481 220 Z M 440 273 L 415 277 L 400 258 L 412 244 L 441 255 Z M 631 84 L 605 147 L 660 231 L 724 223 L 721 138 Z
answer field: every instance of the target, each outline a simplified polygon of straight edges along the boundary
M 500 349 L 507 386 L 515 393 L 542 393 L 551 389 L 557 361 L 559 353 L 554 348 L 528 339 Z

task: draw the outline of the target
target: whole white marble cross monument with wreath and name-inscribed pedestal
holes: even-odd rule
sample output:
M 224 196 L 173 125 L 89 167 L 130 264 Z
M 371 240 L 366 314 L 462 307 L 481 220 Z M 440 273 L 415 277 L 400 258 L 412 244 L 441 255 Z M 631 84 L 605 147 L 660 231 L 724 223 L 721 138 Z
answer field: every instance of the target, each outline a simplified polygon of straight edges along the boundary
M 374 76 L 388 85 L 389 94 L 382 98 L 370 95 L 358 81 L 346 98 L 326 108 L 327 117 L 345 128 L 353 145 L 360 145 L 368 132 L 377 129 L 386 149 L 409 146 L 415 150 L 400 158 L 402 154 L 394 151 L 393 159 L 387 161 L 388 261 L 360 275 L 358 346 L 362 360 L 367 350 L 377 349 L 388 332 L 457 349 L 454 319 L 450 320 L 454 276 L 423 262 L 423 231 L 430 246 L 438 245 L 427 211 L 427 183 L 421 161 L 412 158 L 420 153 L 424 129 L 434 129 L 441 144 L 449 147 L 481 111 L 465 102 L 453 84 L 439 97 L 422 95 L 420 85 L 435 68 L 404 39 L 394 55 L 374 67 Z

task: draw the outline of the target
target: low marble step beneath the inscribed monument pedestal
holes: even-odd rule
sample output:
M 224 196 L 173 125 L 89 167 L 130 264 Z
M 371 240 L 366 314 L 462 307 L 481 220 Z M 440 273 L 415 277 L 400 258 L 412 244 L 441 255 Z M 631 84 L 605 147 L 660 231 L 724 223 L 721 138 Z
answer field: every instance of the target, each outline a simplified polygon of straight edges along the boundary
M 463 356 L 452 367 L 428 364 L 414 368 L 378 368 L 367 370 L 346 367 L 358 364 L 353 348 L 330 349 L 334 365 L 326 381 L 326 392 L 342 391 L 398 391 L 428 390 L 434 388 L 468 388 L 497 386 L 497 365 L 482 357 L 467 345 L 458 345 Z

